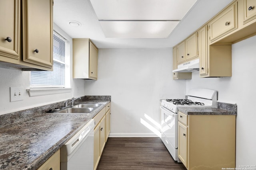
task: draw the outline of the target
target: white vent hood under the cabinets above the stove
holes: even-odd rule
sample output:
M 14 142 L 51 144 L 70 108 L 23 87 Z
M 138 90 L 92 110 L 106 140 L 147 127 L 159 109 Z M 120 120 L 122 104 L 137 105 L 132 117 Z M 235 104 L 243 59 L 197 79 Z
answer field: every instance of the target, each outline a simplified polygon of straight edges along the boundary
M 178 68 L 172 70 L 172 72 L 192 72 L 194 70 L 199 71 L 199 59 L 180 64 Z

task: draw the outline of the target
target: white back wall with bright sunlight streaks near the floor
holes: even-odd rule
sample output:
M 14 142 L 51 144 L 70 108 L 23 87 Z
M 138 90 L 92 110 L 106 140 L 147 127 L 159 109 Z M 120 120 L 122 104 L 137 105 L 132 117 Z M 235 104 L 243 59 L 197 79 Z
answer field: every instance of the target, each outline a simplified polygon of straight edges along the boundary
M 111 96 L 111 136 L 153 136 L 160 99 L 186 91 L 186 81 L 172 81 L 171 71 L 171 48 L 99 49 L 98 80 L 85 80 L 85 94 Z

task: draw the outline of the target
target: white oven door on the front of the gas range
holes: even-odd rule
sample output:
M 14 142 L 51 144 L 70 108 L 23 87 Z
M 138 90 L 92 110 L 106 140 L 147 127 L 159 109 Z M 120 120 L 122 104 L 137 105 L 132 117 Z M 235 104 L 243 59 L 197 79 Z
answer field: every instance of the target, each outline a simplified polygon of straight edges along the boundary
M 161 106 L 162 133 L 174 149 L 178 148 L 178 114 Z

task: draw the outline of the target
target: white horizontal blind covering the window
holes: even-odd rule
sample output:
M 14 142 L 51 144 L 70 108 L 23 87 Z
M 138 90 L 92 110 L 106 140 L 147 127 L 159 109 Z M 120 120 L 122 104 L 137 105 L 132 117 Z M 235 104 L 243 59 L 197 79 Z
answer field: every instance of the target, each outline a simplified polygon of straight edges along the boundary
M 65 56 L 67 41 L 53 34 L 53 71 L 31 71 L 30 87 L 65 87 Z

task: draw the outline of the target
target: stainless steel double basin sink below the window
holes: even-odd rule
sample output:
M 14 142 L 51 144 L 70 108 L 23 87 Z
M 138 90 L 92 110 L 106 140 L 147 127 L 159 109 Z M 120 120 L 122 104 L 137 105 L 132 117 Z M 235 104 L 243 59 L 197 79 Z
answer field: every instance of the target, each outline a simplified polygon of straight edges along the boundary
M 55 113 L 84 113 L 89 114 L 94 109 L 96 109 L 98 106 L 102 105 L 104 103 L 97 103 L 97 104 L 78 104 L 74 105 L 72 107 L 57 111 Z

